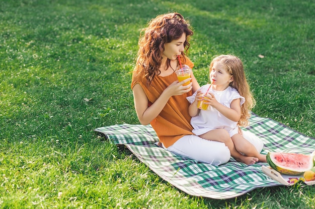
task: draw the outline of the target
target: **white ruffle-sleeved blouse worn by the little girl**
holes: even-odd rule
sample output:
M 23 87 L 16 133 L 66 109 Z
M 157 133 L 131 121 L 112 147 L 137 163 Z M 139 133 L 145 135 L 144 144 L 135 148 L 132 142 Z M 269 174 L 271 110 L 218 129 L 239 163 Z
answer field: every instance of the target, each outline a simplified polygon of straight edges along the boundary
M 200 88 L 203 94 L 206 93 L 208 85 L 204 85 Z M 241 99 L 241 105 L 244 104 L 245 98 L 242 97 L 239 92 L 232 88 L 227 87 L 223 91 L 215 91 L 212 87 L 209 89 L 209 92 L 215 96 L 215 99 L 221 103 L 222 105 L 230 108 L 230 104 L 234 99 Z M 196 97 L 197 91 L 192 95 L 187 97 L 187 100 L 190 103 L 193 103 Z M 195 117 L 191 118 L 190 121 L 191 125 L 193 126 L 193 133 L 196 135 L 204 134 L 210 130 L 223 128 L 227 130 L 230 136 L 238 133 L 238 125 L 237 122 L 231 121 L 222 115 L 219 111 L 209 105 L 208 110 L 200 110 L 199 114 Z

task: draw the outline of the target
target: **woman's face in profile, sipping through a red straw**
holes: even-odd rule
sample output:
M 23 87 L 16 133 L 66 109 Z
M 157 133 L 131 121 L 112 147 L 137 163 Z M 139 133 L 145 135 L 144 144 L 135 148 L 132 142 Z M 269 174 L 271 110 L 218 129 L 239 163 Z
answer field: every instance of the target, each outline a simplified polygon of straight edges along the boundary
M 163 59 L 169 58 L 170 60 L 176 60 L 177 56 L 181 55 L 184 51 L 184 42 L 186 41 L 186 34 L 183 33 L 181 38 L 173 40 L 170 43 L 164 45 Z

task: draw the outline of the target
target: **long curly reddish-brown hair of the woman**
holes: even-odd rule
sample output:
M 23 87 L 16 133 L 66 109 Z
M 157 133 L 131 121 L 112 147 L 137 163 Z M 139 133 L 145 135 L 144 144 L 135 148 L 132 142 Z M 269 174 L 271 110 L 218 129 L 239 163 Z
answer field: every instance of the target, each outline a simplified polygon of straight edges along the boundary
M 148 23 L 148 27 L 143 29 L 139 37 L 139 50 L 136 59 L 136 68 L 145 71 L 145 78 L 150 84 L 154 76 L 160 75 L 162 54 L 165 50 L 164 45 L 173 40 L 181 38 L 186 34 L 184 48 L 187 50 L 190 46 L 189 38 L 193 35 L 190 24 L 179 13 L 169 13 L 159 15 Z M 182 52 L 182 56 L 184 52 Z M 167 67 L 170 66 L 170 60 L 167 61 Z

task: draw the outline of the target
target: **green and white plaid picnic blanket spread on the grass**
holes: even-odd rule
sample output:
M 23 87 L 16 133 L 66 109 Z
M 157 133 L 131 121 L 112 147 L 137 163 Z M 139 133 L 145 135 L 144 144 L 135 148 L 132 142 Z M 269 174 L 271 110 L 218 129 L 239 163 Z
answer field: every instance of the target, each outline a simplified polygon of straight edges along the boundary
M 262 153 L 293 152 L 310 154 L 315 139 L 305 136 L 270 118 L 252 113 L 250 126 L 244 128 L 264 142 Z M 159 141 L 150 125 L 119 124 L 96 128 L 113 143 L 124 144 L 153 172 L 178 189 L 194 196 L 227 199 L 245 194 L 255 188 L 283 185 L 262 172 L 258 162 L 246 165 L 235 161 L 214 166 L 177 156 L 154 144 Z

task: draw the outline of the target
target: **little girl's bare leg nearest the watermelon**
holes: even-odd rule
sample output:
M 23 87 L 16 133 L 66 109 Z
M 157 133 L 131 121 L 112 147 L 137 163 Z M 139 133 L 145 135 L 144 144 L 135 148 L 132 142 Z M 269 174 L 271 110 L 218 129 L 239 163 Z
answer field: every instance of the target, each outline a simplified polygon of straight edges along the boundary
M 257 157 L 261 162 L 267 162 L 266 155 L 260 154 L 256 147 L 246 140 L 242 135 L 238 133 L 234 134 L 231 139 L 234 143 L 235 149 L 239 152 L 244 153 L 247 156 Z

